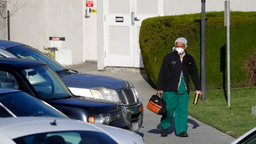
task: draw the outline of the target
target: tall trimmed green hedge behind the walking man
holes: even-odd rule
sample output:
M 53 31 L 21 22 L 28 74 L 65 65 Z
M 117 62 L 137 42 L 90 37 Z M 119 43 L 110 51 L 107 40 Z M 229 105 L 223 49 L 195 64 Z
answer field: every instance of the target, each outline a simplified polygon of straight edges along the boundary
M 188 40 L 188 53 L 196 61 L 200 74 L 201 14 L 153 17 L 143 20 L 140 48 L 145 72 L 156 87 L 163 56 L 172 51 L 176 38 Z M 244 61 L 256 49 L 256 12 L 230 13 L 230 82 L 232 87 L 246 86 Z M 224 12 L 205 13 L 205 86 L 207 90 L 227 85 L 227 27 Z M 193 84 L 191 84 L 193 88 Z

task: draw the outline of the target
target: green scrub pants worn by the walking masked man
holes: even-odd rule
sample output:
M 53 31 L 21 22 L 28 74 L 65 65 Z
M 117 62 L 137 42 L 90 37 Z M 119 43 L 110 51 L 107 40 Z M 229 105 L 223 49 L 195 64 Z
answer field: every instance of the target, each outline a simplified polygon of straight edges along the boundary
M 183 77 L 182 77 L 183 82 Z M 179 94 L 182 93 L 182 94 Z M 163 99 L 166 101 L 166 115 L 161 117 L 162 129 L 168 129 L 173 122 L 173 114 L 175 113 L 175 130 L 176 134 L 187 132 L 188 129 L 188 102 L 189 94 L 186 91 L 184 83 L 180 84 L 178 93 L 164 92 Z

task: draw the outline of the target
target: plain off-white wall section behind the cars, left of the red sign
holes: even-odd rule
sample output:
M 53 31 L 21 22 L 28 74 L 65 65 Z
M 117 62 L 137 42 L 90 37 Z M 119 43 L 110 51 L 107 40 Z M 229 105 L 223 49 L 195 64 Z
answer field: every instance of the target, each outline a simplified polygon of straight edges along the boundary
M 12 10 L 11 1 L 9 9 Z M 58 47 L 56 60 L 63 65 L 83 63 L 83 2 L 79 0 L 19 0 L 24 6 L 10 19 L 10 39 L 31 45 Z M 52 42 L 50 36 L 64 37 Z

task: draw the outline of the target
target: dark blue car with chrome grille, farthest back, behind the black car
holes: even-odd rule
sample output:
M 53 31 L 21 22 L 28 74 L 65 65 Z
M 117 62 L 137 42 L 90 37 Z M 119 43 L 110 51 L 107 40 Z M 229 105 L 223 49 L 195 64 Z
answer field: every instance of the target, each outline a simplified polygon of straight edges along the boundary
M 47 63 L 75 95 L 121 101 L 127 129 L 138 131 L 143 124 L 143 104 L 133 84 L 115 77 L 81 74 L 49 58 L 43 52 L 18 42 L 0 40 L 0 55 L 7 58 L 24 58 Z

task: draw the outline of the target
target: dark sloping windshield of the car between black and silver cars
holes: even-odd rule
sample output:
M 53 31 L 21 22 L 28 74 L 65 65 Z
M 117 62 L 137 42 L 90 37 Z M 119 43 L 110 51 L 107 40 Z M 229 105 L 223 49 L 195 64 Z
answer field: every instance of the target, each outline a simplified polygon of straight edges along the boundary
M 25 92 L 0 94 L 0 103 L 12 111 L 15 116 L 54 116 L 67 118 L 49 104 Z

